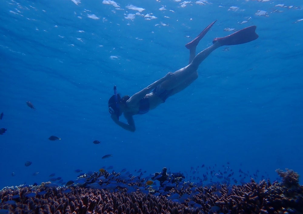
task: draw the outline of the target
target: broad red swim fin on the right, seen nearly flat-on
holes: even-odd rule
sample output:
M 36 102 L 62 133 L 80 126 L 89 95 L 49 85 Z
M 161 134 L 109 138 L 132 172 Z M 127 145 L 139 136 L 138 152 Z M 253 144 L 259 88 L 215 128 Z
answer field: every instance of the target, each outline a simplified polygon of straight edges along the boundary
M 242 30 L 239 30 L 231 35 L 215 38 L 212 43 L 219 42 L 221 45 L 234 45 L 253 41 L 259 37 L 255 32 L 256 28 L 257 26 L 255 25 L 243 28 Z

